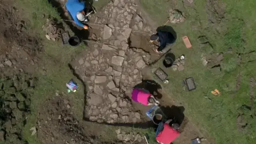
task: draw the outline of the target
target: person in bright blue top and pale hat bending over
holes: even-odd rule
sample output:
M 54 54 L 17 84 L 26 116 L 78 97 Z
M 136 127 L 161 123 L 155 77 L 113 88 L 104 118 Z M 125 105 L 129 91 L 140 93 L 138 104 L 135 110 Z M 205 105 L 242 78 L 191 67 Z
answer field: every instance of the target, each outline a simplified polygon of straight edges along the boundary
M 88 29 L 86 25 L 83 25 L 81 21 L 86 21 L 85 17 L 85 3 L 79 2 L 79 0 L 68 0 L 66 3 L 66 7 L 71 17 L 75 21 L 76 25 L 83 27 L 84 29 Z

